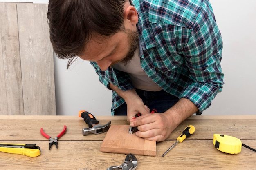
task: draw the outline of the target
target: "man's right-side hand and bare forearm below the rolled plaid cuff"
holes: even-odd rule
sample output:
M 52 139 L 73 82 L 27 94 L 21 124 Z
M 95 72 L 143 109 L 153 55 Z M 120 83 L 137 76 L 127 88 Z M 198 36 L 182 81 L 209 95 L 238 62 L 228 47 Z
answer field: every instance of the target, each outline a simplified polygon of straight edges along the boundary
M 186 118 L 197 111 L 188 99 L 182 98 L 164 113 L 145 114 L 131 119 L 130 126 L 138 126 L 136 135 L 151 141 L 164 141 Z

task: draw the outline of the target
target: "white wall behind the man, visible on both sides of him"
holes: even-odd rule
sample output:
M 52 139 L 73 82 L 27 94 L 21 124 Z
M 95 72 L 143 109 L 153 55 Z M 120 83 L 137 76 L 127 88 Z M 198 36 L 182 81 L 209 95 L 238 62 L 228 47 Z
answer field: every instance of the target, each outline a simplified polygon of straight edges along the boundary
M 256 1 L 210 1 L 224 43 L 225 85 L 204 115 L 255 115 Z M 48 0 L 41 3 L 45 2 Z M 87 110 L 111 115 L 112 93 L 99 82 L 89 62 L 79 60 L 70 70 L 66 66 L 67 61 L 54 58 L 57 114 L 77 115 L 79 110 Z

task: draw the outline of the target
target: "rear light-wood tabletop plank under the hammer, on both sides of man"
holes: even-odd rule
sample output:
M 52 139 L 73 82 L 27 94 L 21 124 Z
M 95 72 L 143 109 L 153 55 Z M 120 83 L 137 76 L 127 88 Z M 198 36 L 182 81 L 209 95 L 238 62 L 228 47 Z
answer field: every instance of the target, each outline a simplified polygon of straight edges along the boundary
M 178 126 L 168 137 L 168 140 L 176 140 L 186 126 L 195 126 L 195 133 L 186 140 L 212 140 L 213 134 L 223 134 L 237 137 L 241 140 L 256 139 L 256 119 L 244 116 L 245 119 L 205 119 L 207 116 L 195 116 L 197 119 L 187 119 Z M 202 117 L 202 118 L 201 118 Z M 217 116 L 216 116 L 217 117 Z M 233 116 L 230 116 L 231 118 Z M 236 117 L 236 116 L 234 116 Z M 97 116 L 100 124 L 129 125 L 126 116 Z M 22 127 L 26 124 L 26 128 Z M 42 139 L 40 128 L 52 129 L 53 134 L 67 126 L 67 133 L 72 133 L 67 140 L 103 140 L 106 133 L 82 135 L 82 129 L 88 127 L 83 119 L 76 116 L 0 116 L 0 140 L 36 140 Z M 58 129 L 57 129 L 58 128 Z M 17 129 L 19 129 L 17 131 Z M 68 136 L 68 135 L 67 135 Z M 63 137 L 64 139 L 67 137 Z

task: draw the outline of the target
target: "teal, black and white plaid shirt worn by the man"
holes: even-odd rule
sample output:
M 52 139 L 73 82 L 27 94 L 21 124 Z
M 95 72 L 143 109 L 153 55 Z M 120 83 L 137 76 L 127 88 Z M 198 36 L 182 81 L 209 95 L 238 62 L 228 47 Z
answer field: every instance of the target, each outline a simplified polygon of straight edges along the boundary
M 141 67 L 166 92 L 186 98 L 198 113 L 222 91 L 222 38 L 208 0 L 131 0 L 137 10 L 143 54 Z M 100 82 L 121 90 L 134 88 L 127 73 L 101 71 L 91 62 Z M 110 89 L 110 88 L 109 88 Z M 112 114 L 124 103 L 113 91 Z

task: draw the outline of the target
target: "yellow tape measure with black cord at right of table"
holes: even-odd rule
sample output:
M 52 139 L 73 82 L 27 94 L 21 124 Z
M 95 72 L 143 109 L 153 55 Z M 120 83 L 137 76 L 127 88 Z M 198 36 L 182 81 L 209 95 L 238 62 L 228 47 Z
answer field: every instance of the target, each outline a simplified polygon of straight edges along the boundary
M 249 146 L 242 144 L 241 140 L 228 136 L 228 135 L 220 135 L 220 134 L 214 134 L 213 135 L 213 144 L 215 148 L 220 150 L 221 152 L 229 153 L 229 154 L 238 154 L 241 152 L 242 146 L 253 150 L 256 152 L 255 149 L 250 148 Z

